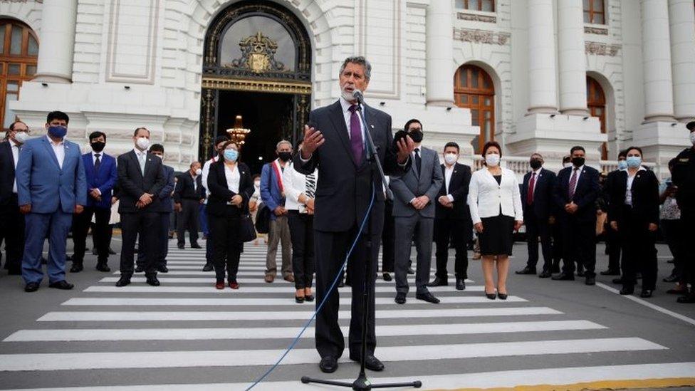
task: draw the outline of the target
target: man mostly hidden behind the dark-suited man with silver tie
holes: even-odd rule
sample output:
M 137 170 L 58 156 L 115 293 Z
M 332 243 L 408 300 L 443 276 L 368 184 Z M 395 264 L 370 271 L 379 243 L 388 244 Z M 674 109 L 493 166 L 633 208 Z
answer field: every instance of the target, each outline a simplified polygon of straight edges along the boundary
M 152 144 L 152 147 L 150 147 L 150 155 L 164 160 L 164 145 Z M 167 184 L 162 187 L 162 191 L 159 194 L 160 202 L 152 205 L 152 212 L 157 214 L 157 224 L 155 224 L 155 230 L 157 231 L 157 259 L 155 262 L 157 271 L 160 273 L 168 273 L 167 254 L 169 254 L 169 224 L 171 224 L 171 215 L 174 210 L 174 202 L 172 202 L 172 193 L 174 192 L 174 167 L 162 165 L 162 169 L 164 170 L 164 178 L 166 178 Z M 145 245 L 142 241 L 143 237 L 146 237 L 143 232 L 140 232 L 137 236 L 137 246 L 140 249 L 144 248 L 143 246 Z M 138 251 L 135 273 L 145 271 L 146 255 L 145 251 Z

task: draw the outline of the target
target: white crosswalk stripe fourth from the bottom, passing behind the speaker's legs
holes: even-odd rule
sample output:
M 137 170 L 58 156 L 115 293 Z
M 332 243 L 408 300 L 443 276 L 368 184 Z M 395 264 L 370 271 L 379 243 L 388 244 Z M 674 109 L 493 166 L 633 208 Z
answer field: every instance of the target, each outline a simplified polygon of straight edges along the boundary
M 432 306 L 434 307 L 434 306 Z M 432 308 L 377 311 L 377 319 L 472 318 L 477 316 L 559 315 L 548 307 L 512 308 Z M 313 306 L 307 308 L 313 308 Z M 312 311 L 65 311 L 49 312 L 39 322 L 147 322 L 170 320 L 307 320 Z M 339 318 L 350 319 L 350 311 L 338 311 Z

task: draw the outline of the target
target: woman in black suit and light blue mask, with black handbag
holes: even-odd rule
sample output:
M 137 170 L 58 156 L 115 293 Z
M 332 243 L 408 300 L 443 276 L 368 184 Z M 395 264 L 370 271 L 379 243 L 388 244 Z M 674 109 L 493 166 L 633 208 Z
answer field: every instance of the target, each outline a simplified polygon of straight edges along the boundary
M 210 196 L 207 214 L 213 245 L 212 259 L 217 281 L 215 288 L 224 289 L 226 266 L 229 288 L 239 289 L 236 273 L 239 271 L 241 216 L 249 213 L 249 199 L 254 194 L 254 179 L 249 167 L 239 160 L 239 149 L 234 142 L 226 142 L 220 158 L 210 165 L 207 188 Z M 226 260 L 226 262 L 225 262 Z

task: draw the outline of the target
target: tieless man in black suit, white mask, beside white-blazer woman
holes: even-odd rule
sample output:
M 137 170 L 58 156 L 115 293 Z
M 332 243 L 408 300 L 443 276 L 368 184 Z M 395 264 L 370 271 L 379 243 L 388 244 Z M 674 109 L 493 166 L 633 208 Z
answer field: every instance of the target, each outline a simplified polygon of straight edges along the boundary
M 449 244 L 456 251 L 454 273 L 456 289 L 466 289 L 468 278 L 468 242 L 473 232 L 471 212 L 468 209 L 468 187 L 471 182 L 471 167 L 461 165 L 459 145 L 447 142 L 444 145 L 444 164 L 441 174 L 444 177 L 437 194 L 437 207 L 434 215 L 434 241 L 437 244 L 437 272 L 429 286 L 449 285 Z

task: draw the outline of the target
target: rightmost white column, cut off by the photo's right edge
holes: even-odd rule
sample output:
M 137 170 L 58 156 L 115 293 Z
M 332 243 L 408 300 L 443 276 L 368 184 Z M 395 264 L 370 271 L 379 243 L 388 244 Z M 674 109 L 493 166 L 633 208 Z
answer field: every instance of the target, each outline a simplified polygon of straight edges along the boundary
M 669 0 L 671 64 L 676 120 L 695 120 L 695 6 L 691 0 Z

